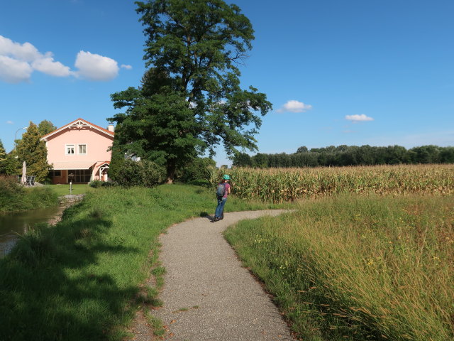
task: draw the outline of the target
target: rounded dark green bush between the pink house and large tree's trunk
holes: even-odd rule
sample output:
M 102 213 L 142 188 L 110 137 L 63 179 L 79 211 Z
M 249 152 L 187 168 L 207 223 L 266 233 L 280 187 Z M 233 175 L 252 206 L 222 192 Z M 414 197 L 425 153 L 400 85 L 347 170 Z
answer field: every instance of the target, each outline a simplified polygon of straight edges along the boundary
M 164 179 L 165 169 L 147 160 L 126 160 L 116 175 L 118 185 L 126 187 L 153 187 L 162 183 Z

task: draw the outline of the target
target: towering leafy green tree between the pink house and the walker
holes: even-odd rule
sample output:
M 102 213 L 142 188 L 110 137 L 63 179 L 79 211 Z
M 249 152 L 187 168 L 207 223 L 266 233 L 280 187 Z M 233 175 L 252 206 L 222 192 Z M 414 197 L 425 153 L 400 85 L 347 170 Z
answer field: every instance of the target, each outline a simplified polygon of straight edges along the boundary
M 240 87 L 238 66 L 252 48 L 253 28 L 236 5 L 221 0 L 136 2 L 145 26 L 145 66 L 138 88 L 111 95 L 118 146 L 175 170 L 223 144 L 255 150 L 261 115 L 272 105 Z

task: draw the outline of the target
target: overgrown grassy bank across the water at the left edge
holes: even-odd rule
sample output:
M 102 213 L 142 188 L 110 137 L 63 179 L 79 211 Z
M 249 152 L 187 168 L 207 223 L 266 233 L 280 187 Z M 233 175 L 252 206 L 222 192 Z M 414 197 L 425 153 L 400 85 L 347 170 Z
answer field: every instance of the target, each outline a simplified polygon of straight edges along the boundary
M 0 212 L 15 212 L 57 205 L 50 188 L 24 188 L 15 177 L 0 176 Z

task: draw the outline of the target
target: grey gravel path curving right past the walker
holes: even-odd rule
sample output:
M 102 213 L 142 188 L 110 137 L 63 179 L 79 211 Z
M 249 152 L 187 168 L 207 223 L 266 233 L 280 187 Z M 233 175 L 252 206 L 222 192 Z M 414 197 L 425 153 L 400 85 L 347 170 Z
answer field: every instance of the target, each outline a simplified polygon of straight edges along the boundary
M 165 340 L 294 340 L 260 283 L 241 266 L 222 236 L 239 220 L 282 212 L 226 213 L 224 220 L 214 223 L 208 217 L 196 218 L 162 234 L 164 306 L 153 315 L 166 325 Z

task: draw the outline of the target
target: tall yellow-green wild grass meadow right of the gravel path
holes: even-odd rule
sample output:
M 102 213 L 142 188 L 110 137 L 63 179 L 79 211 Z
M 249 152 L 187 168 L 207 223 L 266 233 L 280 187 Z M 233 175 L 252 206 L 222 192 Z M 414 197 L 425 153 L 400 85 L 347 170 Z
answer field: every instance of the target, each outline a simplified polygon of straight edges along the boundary
M 226 237 L 301 340 L 454 340 L 454 197 L 345 195 Z

